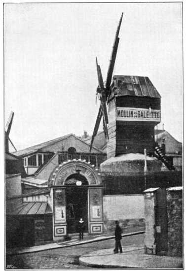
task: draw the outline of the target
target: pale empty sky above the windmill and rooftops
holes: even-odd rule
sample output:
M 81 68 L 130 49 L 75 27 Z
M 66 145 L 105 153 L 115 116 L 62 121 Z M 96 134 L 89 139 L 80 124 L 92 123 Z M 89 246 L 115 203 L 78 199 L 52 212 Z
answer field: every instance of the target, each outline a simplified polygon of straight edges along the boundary
M 12 110 L 17 150 L 84 130 L 92 135 L 95 57 L 105 80 L 122 12 L 113 75 L 148 76 L 162 97 L 158 128 L 164 124 L 182 142 L 181 2 L 5 3 L 4 122 Z

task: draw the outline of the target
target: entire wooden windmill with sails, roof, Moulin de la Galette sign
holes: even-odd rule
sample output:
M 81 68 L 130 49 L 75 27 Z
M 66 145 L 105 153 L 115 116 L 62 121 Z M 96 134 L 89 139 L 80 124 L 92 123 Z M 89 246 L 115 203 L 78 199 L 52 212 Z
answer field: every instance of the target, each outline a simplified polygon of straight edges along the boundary
M 96 58 L 99 81 L 96 94 L 101 105 L 92 135 L 91 148 L 103 117 L 103 128 L 108 139 L 108 159 L 121 154 L 143 154 L 146 149 L 150 156 L 153 155 L 161 160 L 168 169 L 174 169 L 154 142 L 154 127 L 161 121 L 161 97 L 150 79 L 144 76 L 126 75 L 114 75 L 112 78 L 122 17 L 123 13 L 115 34 L 105 85 Z

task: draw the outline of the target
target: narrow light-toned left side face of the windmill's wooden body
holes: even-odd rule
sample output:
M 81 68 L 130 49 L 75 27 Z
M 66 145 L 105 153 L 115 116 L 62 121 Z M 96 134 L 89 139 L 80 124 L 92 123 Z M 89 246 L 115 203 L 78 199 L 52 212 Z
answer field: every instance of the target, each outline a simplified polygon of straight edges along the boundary
M 112 99 L 108 104 L 109 124 L 108 133 L 109 141 L 107 142 L 107 159 L 115 156 L 116 150 L 116 101 Z

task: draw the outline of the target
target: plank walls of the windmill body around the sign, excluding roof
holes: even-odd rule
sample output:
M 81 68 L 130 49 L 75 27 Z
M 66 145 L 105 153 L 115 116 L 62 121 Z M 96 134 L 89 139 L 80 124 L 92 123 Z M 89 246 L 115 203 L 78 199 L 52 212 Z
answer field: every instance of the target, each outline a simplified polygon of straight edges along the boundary
M 116 96 L 108 103 L 109 141 L 107 159 L 124 153 L 153 153 L 154 127 L 151 121 L 116 121 L 116 107 L 146 108 L 160 110 L 160 98 Z

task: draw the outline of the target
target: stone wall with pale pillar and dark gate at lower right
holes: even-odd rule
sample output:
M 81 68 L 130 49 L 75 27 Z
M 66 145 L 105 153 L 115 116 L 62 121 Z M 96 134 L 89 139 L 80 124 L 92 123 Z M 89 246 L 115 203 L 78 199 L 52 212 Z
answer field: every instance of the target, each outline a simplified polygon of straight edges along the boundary
M 145 253 L 183 257 L 183 188 L 145 192 Z

